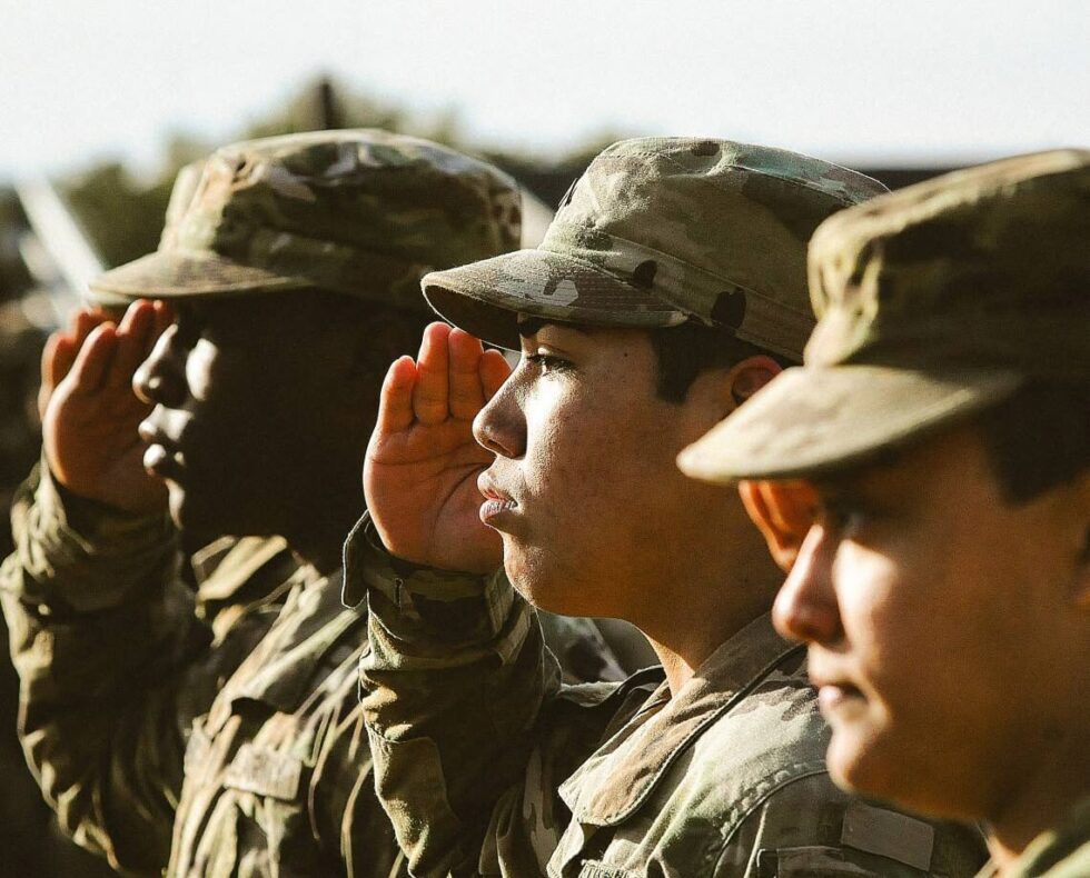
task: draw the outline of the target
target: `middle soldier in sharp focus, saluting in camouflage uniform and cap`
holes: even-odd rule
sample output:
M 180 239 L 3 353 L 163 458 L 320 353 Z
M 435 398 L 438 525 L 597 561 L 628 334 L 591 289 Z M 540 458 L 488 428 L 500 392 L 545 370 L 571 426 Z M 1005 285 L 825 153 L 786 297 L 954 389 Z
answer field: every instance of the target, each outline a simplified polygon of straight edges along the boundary
M 801 358 L 806 240 L 880 191 L 776 149 L 622 141 L 538 249 L 424 279 L 440 315 L 522 359 L 509 373 L 435 325 L 417 362 L 394 363 L 369 518 L 346 546 L 346 590 L 370 607 L 376 782 L 414 874 L 949 876 L 983 860 L 973 832 L 831 784 L 802 650 L 769 618 L 779 571 L 737 498 L 674 465 Z M 501 560 L 517 593 L 487 576 Z M 527 600 L 632 621 L 663 667 L 561 687 Z

